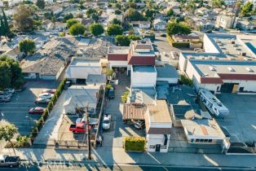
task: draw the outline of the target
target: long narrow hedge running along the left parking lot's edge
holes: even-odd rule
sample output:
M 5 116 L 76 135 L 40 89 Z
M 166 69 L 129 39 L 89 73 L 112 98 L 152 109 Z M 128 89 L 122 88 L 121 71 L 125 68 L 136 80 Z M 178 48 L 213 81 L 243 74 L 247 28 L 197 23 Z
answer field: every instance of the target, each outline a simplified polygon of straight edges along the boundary
M 51 112 L 55 103 L 57 102 L 58 98 L 60 97 L 62 90 L 64 90 L 64 85 L 65 85 L 65 79 L 63 79 L 60 82 L 60 85 L 58 86 L 57 90 L 55 91 L 54 96 L 51 98 L 51 101 L 47 104 L 45 112 L 42 113 L 42 116 L 37 121 L 37 124 L 33 126 L 33 129 L 29 135 L 29 138 L 31 138 L 32 142 L 33 142 L 33 138 L 37 137 L 38 132 L 42 129 L 42 126 L 45 124 L 45 121 L 49 116 L 49 112 Z

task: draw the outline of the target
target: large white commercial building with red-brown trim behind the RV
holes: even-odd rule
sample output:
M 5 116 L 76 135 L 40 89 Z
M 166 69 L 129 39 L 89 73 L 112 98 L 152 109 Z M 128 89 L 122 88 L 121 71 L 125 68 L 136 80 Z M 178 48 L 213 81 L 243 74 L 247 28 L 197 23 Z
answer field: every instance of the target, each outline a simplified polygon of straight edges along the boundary
M 206 53 L 181 53 L 179 68 L 193 80 L 196 90 L 214 93 L 256 92 L 256 37 L 205 34 Z

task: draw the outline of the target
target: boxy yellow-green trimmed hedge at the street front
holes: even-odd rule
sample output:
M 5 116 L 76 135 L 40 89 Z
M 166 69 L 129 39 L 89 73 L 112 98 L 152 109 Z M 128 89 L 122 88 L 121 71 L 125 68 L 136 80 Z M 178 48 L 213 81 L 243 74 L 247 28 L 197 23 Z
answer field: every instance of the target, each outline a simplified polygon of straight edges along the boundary
M 126 151 L 144 151 L 145 143 L 145 138 L 126 137 L 124 140 L 124 147 Z

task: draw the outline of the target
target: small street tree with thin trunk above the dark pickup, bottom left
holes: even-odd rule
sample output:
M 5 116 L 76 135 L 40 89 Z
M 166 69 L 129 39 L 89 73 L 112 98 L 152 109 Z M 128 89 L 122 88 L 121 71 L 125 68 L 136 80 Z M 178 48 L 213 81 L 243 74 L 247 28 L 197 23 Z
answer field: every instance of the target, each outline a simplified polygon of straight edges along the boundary
M 15 156 L 16 156 L 16 153 L 15 153 L 15 149 L 13 147 L 13 143 L 11 142 L 11 139 L 14 137 L 14 135 L 17 132 L 18 132 L 18 129 L 13 124 L 0 127 L 0 139 L 11 143 L 11 147 L 14 151 Z

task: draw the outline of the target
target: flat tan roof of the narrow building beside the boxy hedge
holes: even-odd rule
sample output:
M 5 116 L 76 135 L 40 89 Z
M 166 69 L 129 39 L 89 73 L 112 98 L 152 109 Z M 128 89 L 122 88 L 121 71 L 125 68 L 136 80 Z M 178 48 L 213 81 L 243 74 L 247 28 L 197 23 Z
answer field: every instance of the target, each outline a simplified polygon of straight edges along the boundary
M 166 100 L 157 100 L 156 105 L 148 105 L 149 122 L 152 123 L 170 123 L 170 112 Z

